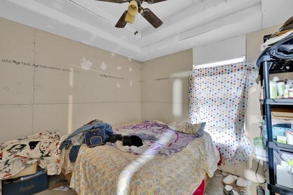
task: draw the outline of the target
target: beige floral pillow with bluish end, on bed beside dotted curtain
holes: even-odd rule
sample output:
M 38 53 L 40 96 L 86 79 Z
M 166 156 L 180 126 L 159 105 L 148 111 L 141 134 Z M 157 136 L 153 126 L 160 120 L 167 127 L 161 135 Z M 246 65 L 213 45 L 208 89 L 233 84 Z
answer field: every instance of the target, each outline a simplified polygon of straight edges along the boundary
M 204 134 L 204 128 L 206 123 L 191 124 L 188 122 L 172 122 L 168 124 L 168 127 L 172 130 L 179 131 L 185 134 L 192 134 L 201 137 Z

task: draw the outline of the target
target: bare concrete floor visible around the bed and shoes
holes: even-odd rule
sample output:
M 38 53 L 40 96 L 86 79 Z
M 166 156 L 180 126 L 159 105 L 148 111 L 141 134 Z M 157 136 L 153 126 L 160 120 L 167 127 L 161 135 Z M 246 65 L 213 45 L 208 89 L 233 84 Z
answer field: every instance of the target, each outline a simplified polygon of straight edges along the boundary
M 220 171 L 216 171 L 214 176 L 210 178 L 209 184 L 206 187 L 206 195 L 224 195 L 222 183 L 224 176 L 221 175 Z M 245 189 L 246 192 L 243 195 L 256 195 L 256 186 L 258 184 L 248 181 L 248 187 Z M 36 195 L 76 195 L 75 191 L 58 191 L 58 190 L 45 190 Z

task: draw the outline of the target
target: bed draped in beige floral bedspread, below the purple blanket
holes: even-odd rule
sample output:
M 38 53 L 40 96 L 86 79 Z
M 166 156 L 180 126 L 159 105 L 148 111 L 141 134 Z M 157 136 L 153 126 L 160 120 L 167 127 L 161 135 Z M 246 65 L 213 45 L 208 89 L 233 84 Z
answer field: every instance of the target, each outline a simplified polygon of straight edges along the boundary
M 141 121 L 113 127 L 126 128 Z M 62 151 L 63 174 L 79 195 L 203 195 L 220 154 L 204 133 L 170 156 L 134 155 L 111 145 L 82 145 L 75 162 Z

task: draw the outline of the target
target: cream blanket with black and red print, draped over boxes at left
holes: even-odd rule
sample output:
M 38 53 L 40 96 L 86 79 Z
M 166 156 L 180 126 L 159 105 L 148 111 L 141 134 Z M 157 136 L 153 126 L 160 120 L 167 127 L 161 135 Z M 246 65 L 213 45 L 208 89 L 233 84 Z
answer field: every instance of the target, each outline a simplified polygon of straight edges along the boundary
M 48 175 L 61 172 L 58 133 L 40 133 L 0 143 L 0 180 L 14 176 L 39 161 Z

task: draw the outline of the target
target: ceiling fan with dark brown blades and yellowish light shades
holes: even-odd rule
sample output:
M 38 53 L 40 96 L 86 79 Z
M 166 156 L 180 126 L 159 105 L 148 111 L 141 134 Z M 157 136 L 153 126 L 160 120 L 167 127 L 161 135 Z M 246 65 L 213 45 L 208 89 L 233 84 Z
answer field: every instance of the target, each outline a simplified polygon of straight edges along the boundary
M 158 28 L 163 24 L 163 21 L 160 20 L 150 9 L 143 8 L 141 4 L 145 1 L 149 4 L 158 3 L 165 0 L 99 0 L 107 1 L 112 3 L 126 3 L 129 2 L 128 9 L 122 14 L 117 24 L 116 28 L 124 28 L 126 23 L 133 23 L 137 13 L 140 13 L 153 27 Z

